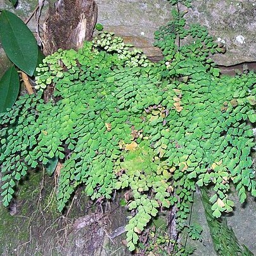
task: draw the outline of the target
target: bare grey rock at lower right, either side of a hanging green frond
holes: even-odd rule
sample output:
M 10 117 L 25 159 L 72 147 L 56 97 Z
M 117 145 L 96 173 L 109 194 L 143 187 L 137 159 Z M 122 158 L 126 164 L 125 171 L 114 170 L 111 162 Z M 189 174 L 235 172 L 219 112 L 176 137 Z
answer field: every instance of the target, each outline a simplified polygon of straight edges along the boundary
M 255 198 L 248 195 L 246 203 L 241 204 L 237 192 L 232 192 L 229 199 L 233 200 L 235 208 L 231 214 L 224 215 L 227 219 L 227 225 L 231 227 L 240 242 L 240 245 L 245 245 L 253 254 L 256 255 L 256 201 Z M 205 217 L 200 193 L 194 195 L 194 203 L 192 208 L 191 223 L 200 224 L 203 227 L 202 238 L 203 242 L 194 241 L 188 238 L 188 246 L 196 247 L 193 255 L 217 255 L 214 250 L 210 229 Z

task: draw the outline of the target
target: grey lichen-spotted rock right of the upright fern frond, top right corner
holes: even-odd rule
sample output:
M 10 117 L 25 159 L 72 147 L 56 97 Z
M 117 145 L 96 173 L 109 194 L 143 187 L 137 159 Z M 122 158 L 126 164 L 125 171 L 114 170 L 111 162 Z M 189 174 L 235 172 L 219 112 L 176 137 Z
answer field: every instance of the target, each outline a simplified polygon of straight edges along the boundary
M 210 34 L 226 46 L 226 54 L 216 54 L 218 65 L 256 61 L 256 2 L 253 0 L 196 0 L 188 12 L 188 22 L 207 26 Z

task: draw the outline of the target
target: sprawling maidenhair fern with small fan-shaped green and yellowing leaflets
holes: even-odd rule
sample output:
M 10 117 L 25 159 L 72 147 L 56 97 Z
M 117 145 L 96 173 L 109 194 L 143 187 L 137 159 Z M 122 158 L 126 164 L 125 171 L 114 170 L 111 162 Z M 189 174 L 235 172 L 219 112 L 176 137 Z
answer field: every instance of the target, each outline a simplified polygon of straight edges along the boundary
M 58 158 L 60 210 L 80 184 L 92 199 L 131 189 L 126 230 L 134 250 L 161 207 L 175 204 L 178 229 L 188 225 L 196 185 L 213 186 L 215 217 L 233 210 L 231 182 L 241 203 L 246 190 L 256 195 L 248 124 L 256 118 L 256 74 L 220 75 L 208 55 L 222 49 L 204 27 L 185 27 L 184 13 L 173 15 L 155 34 L 158 63 L 106 32 L 44 59 L 37 94 L 0 114 L 4 205 L 28 170 Z M 44 103 L 49 84 L 53 101 Z

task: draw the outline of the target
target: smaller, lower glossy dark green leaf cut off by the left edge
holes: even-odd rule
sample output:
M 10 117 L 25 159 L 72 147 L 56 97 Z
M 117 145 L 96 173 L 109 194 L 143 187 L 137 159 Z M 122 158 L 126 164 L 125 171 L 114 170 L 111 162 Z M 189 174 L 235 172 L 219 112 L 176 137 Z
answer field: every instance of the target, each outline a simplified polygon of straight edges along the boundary
M 20 90 L 18 72 L 14 66 L 10 67 L 0 80 L 0 113 L 5 112 L 16 101 Z

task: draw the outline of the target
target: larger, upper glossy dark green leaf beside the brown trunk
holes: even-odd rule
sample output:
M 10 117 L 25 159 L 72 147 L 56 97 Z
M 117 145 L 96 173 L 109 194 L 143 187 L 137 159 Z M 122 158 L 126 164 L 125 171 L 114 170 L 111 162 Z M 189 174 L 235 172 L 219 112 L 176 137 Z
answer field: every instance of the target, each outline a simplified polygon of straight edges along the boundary
M 10 60 L 32 76 L 37 65 L 37 42 L 25 23 L 10 11 L 1 12 L 0 40 Z

